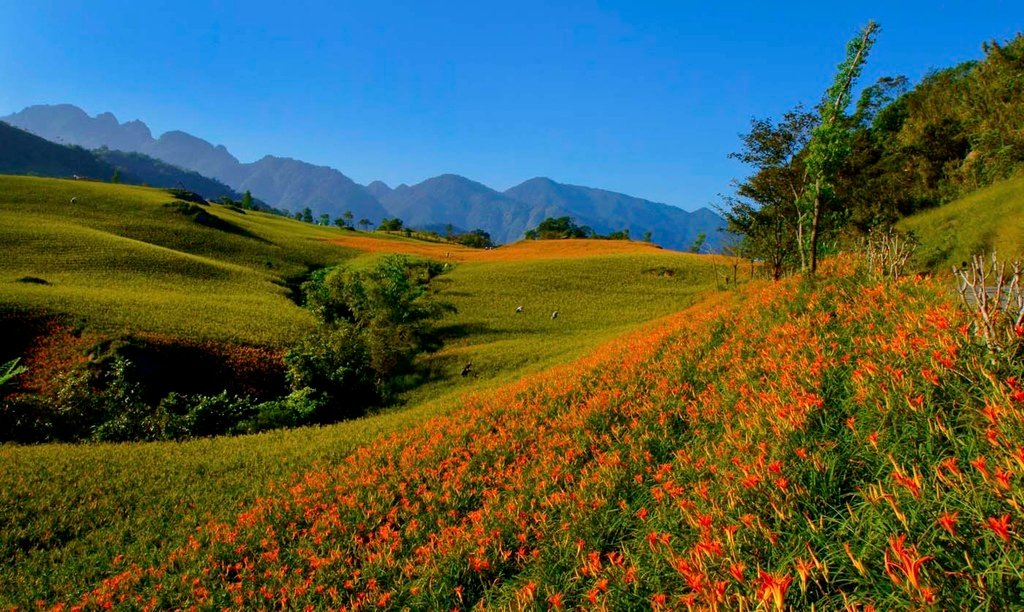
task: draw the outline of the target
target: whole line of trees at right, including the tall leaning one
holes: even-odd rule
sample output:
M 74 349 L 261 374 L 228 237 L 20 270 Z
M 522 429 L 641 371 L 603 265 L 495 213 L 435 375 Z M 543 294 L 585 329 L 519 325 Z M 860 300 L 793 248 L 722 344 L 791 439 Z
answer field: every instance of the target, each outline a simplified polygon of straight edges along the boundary
M 756 118 L 730 157 L 750 166 L 719 207 L 737 254 L 773 277 L 815 271 L 818 258 L 923 209 L 1024 167 L 1024 35 L 910 87 L 884 77 L 852 99 L 879 33 L 847 45 L 817 105 Z

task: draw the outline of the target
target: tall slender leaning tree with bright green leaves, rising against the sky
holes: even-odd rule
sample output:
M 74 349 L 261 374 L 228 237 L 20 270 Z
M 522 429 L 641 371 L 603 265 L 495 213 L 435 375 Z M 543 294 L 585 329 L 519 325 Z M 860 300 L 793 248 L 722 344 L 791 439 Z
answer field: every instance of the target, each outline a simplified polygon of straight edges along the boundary
M 818 106 L 820 121 L 811 133 L 807 145 L 807 182 L 800 199 L 802 217 L 810 213 L 810 239 L 807 245 L 811 274 L 818 266 L 818 241 L 821 214 L 833 194 L 833 179 L 850 155 L 851 122 L 846 115 L 850 105 L 851 90 L 860 76 L 867 53 L 874 44 L 879 26 L 867 26 L 846 46 L 846 59 L 839 64 L 831 86 L 825 91 Z M 801 242 L 801 249 L 804 248 Z M 805 259 L 804 257 L 801 258 Z

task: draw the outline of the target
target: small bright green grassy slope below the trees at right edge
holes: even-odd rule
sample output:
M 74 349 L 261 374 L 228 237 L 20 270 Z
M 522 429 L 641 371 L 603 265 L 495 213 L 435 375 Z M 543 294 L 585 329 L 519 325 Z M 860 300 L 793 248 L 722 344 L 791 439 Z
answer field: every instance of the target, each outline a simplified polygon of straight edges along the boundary
M 995 250 L 1024 258 L 1024 177 L 995 183 L 945 206 L 901 220 L 897 229 L 921 238 L 914 265 L 946 271 L 975 254 Z

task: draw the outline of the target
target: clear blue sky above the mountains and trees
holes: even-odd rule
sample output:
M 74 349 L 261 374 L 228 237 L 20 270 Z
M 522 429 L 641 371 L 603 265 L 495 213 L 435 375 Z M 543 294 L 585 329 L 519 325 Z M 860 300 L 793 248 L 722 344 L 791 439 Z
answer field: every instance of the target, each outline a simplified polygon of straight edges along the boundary
M 70 102 L 361 183 L 549 176 L 694 209 L 868 19 L 865 84 L 1024 31 L 1020 0 L 780 4 L 0 0 L 0 115 Z

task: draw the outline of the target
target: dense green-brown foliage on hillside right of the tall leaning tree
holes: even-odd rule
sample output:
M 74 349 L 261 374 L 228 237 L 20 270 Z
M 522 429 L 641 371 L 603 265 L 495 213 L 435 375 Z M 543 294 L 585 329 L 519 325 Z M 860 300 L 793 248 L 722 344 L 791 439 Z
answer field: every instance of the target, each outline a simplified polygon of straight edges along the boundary
M 858 127 L 837 180 L 854 230 L 892 224 L 1020 170 L 1024 35 L 983 50 L 982 60 L 933 72 L 909 91 L 899 79 L 880 82 L 881 104 Z

